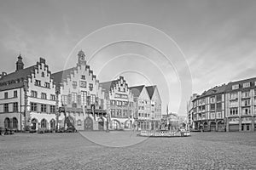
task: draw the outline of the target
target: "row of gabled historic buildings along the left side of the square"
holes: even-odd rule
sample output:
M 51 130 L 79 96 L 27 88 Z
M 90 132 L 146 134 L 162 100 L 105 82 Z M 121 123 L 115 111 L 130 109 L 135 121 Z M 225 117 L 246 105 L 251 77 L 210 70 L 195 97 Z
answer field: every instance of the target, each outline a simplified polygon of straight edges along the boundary
M 160 126 L 156 86 L 129 87 L 124 77 L 99 82 L 79 51 L 77 65 L 52 73 L 45 59 L 0 74 L 0 127 L 22 130 L 75 127 L 78 130 L 154 129 Z

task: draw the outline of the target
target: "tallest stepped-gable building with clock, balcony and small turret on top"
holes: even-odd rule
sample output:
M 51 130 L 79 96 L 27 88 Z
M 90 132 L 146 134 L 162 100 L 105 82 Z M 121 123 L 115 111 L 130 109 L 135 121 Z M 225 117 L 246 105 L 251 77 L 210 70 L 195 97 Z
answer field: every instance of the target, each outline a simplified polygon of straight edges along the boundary
M 67 127 L 77 130 L 107 129 L 105 94 L 90 65 L 87 65 L 82 50 L 79 51 L 75 67 L 56 72 L 53 77 L 61 107 L 57 117 L 59 127 L 67 124 Z

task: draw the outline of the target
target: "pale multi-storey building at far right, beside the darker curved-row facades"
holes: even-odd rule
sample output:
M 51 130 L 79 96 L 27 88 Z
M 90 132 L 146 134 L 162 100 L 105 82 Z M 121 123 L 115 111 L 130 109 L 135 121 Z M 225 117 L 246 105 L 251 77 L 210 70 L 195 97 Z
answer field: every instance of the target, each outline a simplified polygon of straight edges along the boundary
M 228 83 L 225 99 L 227 131 L 254 131 L 256 128 L 256 77 Z

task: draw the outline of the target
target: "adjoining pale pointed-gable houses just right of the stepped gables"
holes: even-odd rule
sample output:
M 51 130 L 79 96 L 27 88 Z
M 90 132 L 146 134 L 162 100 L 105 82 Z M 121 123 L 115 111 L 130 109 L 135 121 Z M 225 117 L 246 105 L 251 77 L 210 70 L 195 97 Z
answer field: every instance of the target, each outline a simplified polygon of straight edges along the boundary
M 161 100 L 156 86 L 140 85 L 129 89 L 134 97 L 134 119 L 137 129 L 158 129 Z

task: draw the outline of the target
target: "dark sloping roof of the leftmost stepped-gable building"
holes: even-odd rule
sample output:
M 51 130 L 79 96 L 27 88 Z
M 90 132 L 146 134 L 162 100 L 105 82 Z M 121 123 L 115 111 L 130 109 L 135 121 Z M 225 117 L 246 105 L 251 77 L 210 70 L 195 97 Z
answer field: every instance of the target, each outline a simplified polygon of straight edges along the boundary
M 9 73 L 8 75 L 0 78 L 0 83 L 1 82 L 9 82 L 9 81 L 20 79 L 20 78 L 26 78 L 27 75 L 30 75 L 31 72 L 34 71 L 34 66 L 35 65 L 32 65 L 25 69 L 21 69 L 20 71 L 15 71 L 15 72 Z

